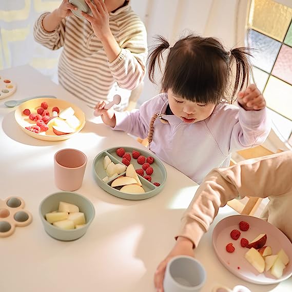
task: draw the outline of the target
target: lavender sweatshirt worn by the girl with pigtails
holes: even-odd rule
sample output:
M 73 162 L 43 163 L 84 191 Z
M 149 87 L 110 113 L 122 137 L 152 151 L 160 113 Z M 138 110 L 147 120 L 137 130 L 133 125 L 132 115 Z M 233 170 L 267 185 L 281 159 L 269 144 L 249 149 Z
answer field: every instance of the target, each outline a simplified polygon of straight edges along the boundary
M 113 130 L 146 138 L 154 113 L 165 114 L 166 93 L 154 96 L 131 112 L 115 112 Z M 270 131 L 266 108 L 246 111 L 219 103 L 204 121 L 185 124 L 175 115 L 165 115 L 168 124 L 154 122 L 150 150 L 160 159 L 201 183 L 213 168 L 229 165 L 231 152 L 262 144 Z

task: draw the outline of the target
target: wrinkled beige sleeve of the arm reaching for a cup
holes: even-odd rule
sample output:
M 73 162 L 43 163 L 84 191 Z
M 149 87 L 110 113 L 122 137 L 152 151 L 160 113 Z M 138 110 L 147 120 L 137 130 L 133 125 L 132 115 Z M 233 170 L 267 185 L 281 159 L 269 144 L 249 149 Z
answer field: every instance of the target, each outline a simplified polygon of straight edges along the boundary
M 227 201 L 238 196 L 266 198 L 289 192 L 292 198 L 292 151 L 213 169 L 184 213 L 177 237 L 188 238 L 197 246 Z

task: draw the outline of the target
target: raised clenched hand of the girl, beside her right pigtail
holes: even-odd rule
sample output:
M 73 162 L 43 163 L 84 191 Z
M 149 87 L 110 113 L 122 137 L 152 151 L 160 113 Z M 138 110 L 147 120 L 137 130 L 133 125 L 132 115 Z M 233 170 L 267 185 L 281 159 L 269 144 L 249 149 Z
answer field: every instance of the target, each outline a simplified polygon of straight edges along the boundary
M 264 96 L 255 84 L 240 91 L 237 100 L 245 110 L 260 110 L 266 106 Z

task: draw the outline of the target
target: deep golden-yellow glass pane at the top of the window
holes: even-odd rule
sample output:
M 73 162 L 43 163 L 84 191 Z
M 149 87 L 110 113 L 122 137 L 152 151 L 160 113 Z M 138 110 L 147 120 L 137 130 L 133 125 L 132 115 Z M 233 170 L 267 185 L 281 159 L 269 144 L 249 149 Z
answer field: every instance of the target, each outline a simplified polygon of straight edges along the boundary
M 252 0 L 249 27 L 282 42 L 292 18 L 292 8 L 272 0 Z

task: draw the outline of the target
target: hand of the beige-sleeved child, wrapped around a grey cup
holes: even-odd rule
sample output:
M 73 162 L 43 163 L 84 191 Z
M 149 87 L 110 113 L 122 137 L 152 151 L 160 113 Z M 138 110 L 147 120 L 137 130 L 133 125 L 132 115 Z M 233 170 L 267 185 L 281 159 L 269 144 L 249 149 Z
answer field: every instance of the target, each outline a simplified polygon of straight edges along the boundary
M 190 256 L 193 257 L 192 242 L 184 237 L 179 237 L 176 245 L 172 248 L 169 255 L 162 261 L 154 274 L 154 286 L 157 292 L 163 291 L 163 279 L 167 263 L 176 256 Z

